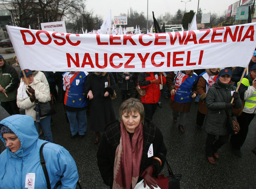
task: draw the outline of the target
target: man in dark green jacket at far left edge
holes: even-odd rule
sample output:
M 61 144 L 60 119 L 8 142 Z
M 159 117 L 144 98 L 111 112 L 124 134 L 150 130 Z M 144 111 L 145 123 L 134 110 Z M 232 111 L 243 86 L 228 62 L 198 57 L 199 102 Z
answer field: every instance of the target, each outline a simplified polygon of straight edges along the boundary
M 1 106 L 10 114 L 19 114 L 16 104 L 19 77 L 16 70 L 6 64 L 0 55 L 0 102 Z

